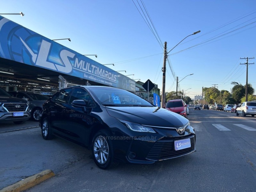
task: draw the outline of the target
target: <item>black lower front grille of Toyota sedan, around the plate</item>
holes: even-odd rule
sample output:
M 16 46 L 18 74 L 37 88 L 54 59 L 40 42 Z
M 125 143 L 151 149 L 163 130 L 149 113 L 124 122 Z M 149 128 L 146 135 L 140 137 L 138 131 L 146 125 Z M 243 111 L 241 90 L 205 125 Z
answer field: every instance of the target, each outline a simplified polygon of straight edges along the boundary
M 186 138 L 182 138 L 186 139 Z M 159 140 L 155 143 L 155 145 L 151 148 L 151 150 L 148 153 L 147 159 L 148 160 L 161 160 L 161 159 L 169 159 L 174 158 L 178 156 L 185 155 L 187 153 L 190 153 L 195 148 L 195 142 L 196 137 L 194 135 L 189 137 L 191 147 L 186 149 L 181 149 L 178 151 L 175 151 L 174 147 L 174 140 Z M 178 140 L 178 139 L 175 139 Z

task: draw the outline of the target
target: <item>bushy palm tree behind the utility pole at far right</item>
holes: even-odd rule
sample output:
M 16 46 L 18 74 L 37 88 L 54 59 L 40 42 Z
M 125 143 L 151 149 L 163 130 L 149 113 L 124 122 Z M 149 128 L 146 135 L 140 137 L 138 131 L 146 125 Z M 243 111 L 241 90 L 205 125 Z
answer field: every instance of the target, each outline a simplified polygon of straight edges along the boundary
M 232 97 L 236 100 L 237 103 L 241 102 L 242 97 L 245 96 L 245 88 L 246 85 L 242 85 L 241 83 L 237 83 L 237 82 L 231 82 L 232 85 L 234 85 L 234 87 L 232 88 L 231 92 L 232 92 Z M 252 88 L 252 84 L 248 83 L 248 94 L 253 94 L 254 93 L 254 89 Z

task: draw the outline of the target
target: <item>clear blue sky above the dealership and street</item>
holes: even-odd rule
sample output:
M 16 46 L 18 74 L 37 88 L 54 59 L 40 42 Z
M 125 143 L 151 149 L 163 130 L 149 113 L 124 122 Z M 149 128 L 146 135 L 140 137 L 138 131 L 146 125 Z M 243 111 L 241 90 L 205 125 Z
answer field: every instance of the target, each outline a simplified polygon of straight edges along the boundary
M 145 22 L 150 20 L 143 15 L 142 2 L 160 43 Z M 256 56 L 255 0 L 0 0 L 0 13 L 19 12 L 25 16 L 2 16 L 50 39 L 70 38 L 58 43 L 81 54 L 97 54 L 88 57 L 114 63 L 108 67 L 134 74 L 130 78 L 150 79 L 161 90 L 164 42 L 170 51 L 201 30 L 169 53 L 172 70 L 166 64 L 166 92 L 176 91 L 177 76 L 181 80 L 193 73 L 179 83 L 181 91 L 191 88 L 186 94 L 192 99 L 213 84 L 228 91 L 232 81 L 244 85 L 246 66 L 240 63 L 246 60 L 240 58 Z M 248 82 L 256 90 L 256 64 L 249 65 Z

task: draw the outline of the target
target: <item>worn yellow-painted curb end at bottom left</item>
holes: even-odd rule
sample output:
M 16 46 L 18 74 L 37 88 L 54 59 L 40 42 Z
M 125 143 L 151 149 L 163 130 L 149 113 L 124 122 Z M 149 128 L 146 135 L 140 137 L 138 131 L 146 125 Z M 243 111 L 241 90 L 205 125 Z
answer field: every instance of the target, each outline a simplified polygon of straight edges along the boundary
M 0 190 L 0 192 L 21 192 L 25 191 L 31 187 L 36 186 L 37 184 L 53 177 L 55 174 L 52 170 L 47 169 L 40 173 L 37 173 L 33 176 L 27 177 L 24 180 L 20 180 L 17 183 L 14 183 L 8 187 L 5 187 Z

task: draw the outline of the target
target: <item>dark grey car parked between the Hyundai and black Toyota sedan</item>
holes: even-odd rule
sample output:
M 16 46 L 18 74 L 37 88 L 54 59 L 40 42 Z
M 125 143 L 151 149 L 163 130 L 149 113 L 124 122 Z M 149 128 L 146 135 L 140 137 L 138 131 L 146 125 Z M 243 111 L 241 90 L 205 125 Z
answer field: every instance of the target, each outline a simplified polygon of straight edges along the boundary
M 25 92 L 25 91 L 11 91 L 9 92 L 14 97 L 28 100 L 29 101 L 29 108 L 31 109 L 31 117 L 34 121 L 39 121 L 40 112 L 43 108 L 44 102 L 49 99 L 48 96 L 34 93 L 34 92 Z

